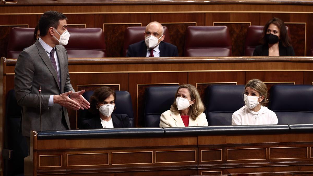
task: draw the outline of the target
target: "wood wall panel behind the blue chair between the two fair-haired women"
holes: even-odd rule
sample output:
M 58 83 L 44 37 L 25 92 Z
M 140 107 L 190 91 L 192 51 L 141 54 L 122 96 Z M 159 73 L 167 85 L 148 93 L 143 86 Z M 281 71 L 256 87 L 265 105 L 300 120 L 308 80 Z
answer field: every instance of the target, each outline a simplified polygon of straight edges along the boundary
M 188 74 L 188 84 L 197 87 L 204 102 L 205 90 L 209 85 L 244 85 L 245 72 L 190 72 Z

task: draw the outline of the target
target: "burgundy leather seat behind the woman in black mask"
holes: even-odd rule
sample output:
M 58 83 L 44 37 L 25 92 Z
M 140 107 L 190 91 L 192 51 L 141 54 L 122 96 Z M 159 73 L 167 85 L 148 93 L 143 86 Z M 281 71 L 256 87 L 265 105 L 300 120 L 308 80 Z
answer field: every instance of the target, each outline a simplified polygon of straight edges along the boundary
M 249 26 L 247 31 L 246 42 L 244 44 L 245 56 L 252 56 L 255 47 L 262 44 L 260 40 L 262 38 L 263 27 L 264 26 Z M 287 26 L 286 28 L 288 36 L 290 36 L 290 30 Z

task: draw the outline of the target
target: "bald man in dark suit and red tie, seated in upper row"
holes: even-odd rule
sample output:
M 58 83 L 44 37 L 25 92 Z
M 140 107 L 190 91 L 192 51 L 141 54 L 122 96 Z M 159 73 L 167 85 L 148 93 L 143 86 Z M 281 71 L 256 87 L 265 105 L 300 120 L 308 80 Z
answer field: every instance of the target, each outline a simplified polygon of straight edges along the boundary
M 163 42 L 162 24 L 151 22 L 146 26 L 145 40 L 129 45 L 126 57 L 178 57 L 177 47 Z

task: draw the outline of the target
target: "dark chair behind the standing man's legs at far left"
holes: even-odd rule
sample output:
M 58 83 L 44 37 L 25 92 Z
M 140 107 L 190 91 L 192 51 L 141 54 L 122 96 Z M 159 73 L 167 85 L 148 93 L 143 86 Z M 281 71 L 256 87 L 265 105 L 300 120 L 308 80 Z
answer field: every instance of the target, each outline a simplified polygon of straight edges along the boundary
M 19 131 L 22 107 L 18 105 L 14 89 L 7 95 L 5 114 L 5 144 L 3 148 L 13 150 L 10 160 L 4 160 L 5 173 L 18 175 L 24 173 L 24 158 L 28 156 L 26 138 Z

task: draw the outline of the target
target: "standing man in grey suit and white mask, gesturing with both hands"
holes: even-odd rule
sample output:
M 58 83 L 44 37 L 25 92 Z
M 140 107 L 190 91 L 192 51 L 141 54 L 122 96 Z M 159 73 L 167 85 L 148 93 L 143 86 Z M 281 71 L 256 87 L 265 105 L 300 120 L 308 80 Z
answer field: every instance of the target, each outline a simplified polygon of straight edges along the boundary
M 65 48 L 69 33 L 64 14 L 48 11 L 39 20 L 40 38 L 23 50 L 15 66 L 14 89 L 22 111 L 22 134 L 29 140 L 30 131 L 40 131 L 39 96 L 42 131 L 70 129 L 67 108 L 88 109 L 89 102 L 74 92 L 70 83 Z M 41 86 L 41 94 L 39 94 Z M 29 141 L 28 141 L 29 142 Z

